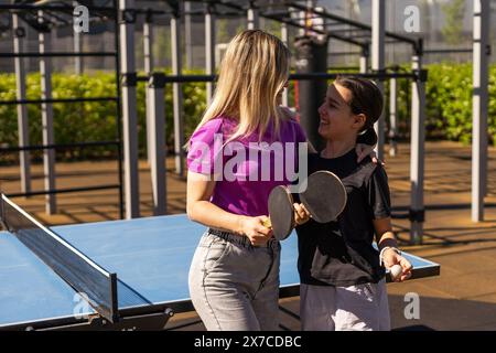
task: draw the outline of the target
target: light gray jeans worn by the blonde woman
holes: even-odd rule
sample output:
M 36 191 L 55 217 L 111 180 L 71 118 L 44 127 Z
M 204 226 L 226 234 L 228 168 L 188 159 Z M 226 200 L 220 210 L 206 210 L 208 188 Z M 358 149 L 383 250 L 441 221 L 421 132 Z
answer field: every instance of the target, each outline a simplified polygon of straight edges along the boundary
M 215 232 L 215 231 L 209 231 Z M 190 268 L 190 295 L 208 331 L 279 330 L 281 245 L 206 232 Z

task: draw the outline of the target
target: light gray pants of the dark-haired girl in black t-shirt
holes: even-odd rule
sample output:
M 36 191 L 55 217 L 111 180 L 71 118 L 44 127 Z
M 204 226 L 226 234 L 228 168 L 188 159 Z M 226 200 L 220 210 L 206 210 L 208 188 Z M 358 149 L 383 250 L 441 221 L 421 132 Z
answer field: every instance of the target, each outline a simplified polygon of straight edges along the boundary
M 389 331 L 386 281 L 351 287 L 300 287 L 304 331 Z

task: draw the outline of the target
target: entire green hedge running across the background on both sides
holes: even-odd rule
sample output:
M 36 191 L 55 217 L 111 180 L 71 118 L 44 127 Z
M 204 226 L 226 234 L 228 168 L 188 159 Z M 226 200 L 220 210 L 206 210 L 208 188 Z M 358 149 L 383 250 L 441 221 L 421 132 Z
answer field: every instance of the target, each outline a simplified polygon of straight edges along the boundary
M 430 65 L 427 84 L 427 130 L 428 138 L 444 138 L 468 143 L 472 135 L 472 66 L 470 64 Z M 185 74 L 202 74 L 201 71 L 186 71 Z M 97 73 L 94 75 L 53 75 L 54 98 L 112 96 L 116 93 L 115 75 Z M 400 132 L 408 137 L 409 131 L 409 82 L 399 81 Z M 205 110 L 205 84 L 183 84 L 185 133 L 190 136 Z M 386 88 L 388 89 L 388 87 Z M 28 98 L 40 97 L 40 75 L 28 76 Z M 293 90 L 293 89 L 292 89 Z M 140 154 L 145 153 L 144 129 L 144 84 L 138 86 L 138 118 Z M 172 85 L 165 88 L 166 143 L 173 146 Z M 496 137 L 496 66 L 490 68 L 489 84 L 489 133 Z M 0 100 L 15 99 L 15 79 L 12 74 L 0 74 Z M 291 94 L 290 101 L 293 101 Z M 117 136 L 116 104 L 114 101 L 54 104 L 55 142 L 69 143 L 96 140 L 112 140 Z M 29 105 L 30 139 L 32 145 L 41 145 L 42 126 L 39 105 Z M 17 108 L 0 105 L 0 145 L 17 146 Z M 41 153 L 33 153 L 40 158 Z M 86 148 L 60 152 L 63 160 L 85 158 L 108 158 L 115 150 Z M 0 162 L 14 161 L 17 153 L 0 156 Z

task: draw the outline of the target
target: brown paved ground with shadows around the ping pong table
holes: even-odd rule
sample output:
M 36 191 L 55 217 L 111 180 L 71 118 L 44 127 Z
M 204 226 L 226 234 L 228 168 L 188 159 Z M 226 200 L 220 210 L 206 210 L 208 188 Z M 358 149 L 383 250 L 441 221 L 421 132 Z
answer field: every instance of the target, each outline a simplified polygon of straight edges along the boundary
M 408 210 L 410 197 L 409 147 L 401 145 L 399 156 L 387 158 L 396 213 Z M 170 213 L 185 211 L 185 180 L 172 173 L 173 160 L 168 160 L 168 207 Z M 441 276 L 388 286 L 393 328 L 425 325 L 435 330 L 496 330 L 496 149 L 489 152 L 486 221 L 471 221 L 471 150 L 453 142 L 427 143 L 425 158 L 425 238 L 422 246 L 403 248 L 441 264 Z M 57 186 L 83 186 L 117 182 L 117 164 L 85 162 L 57 164 Z M 33 189 L 42 189 L 42 167 L 34 167 Z M 0 169 L 3 192 L 19 191 L 17 168 Z M 147 163 L 140 163 L 141 213 L 151 215 L 150 174 Z M 115 190 L 62 194 L 58 213 L 44 213 L 43 196 L 18 199 L 29 212 L 47 224 L 66 224 L 116 220 L 118 197 Z M 408 239 L 408 221 L 395 220 L 395 229 Z M 407 293 L 420 299 L 420 318 L 407 320 Z M 410 297 L 407 297 L 407 299 Z M 281 300 L 281 304 L 298 312 L 299 298 Z M 298 330 L 299 322 L 281 311 L 284 327 Z M 194 313 L 176 315 L 171 324 L 197 320 Z M 201 324 L 183 329 L 202 329 Z

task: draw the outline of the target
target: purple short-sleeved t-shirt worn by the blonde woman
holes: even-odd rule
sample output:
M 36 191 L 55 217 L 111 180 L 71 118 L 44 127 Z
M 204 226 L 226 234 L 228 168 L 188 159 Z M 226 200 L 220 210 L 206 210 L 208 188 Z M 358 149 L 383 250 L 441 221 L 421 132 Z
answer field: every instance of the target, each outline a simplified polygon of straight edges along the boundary
M 227 142 L 237 121 L 218 117 L 202 126 L 191 138 L 187 169 L 215 180 L 211 202 L 235 214 L 268 215 L 268 199 L 277 185 L 294 181 L 299 143 L 306 137 L 298 121 L 281 122 L 279 139 L 269 126 L 259 133 Z M 227 143 L 226 143 L 227 142 Z

